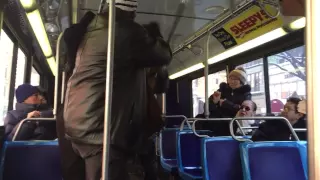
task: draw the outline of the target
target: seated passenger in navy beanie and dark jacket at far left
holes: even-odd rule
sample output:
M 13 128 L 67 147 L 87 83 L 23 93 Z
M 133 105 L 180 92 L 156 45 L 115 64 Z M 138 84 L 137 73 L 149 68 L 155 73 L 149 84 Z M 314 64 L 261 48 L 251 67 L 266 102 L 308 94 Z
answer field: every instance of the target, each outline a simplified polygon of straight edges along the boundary
M 41 104 L 39 89 L 30 84 L 22 84 L 16 89 L 16 110 L 9 111 L 4 120 L 5 136 L 12 140 L 19 123 L 26 118 L 52 117 L 52 110 Z M 25 123 L 19 137 L 23 140 L 38 139 L 44 135 L 44 128 L 38 123 Z M 20 138 L 19 138 L 20 139 Z M 20 139 L 20 140 L 22 140 Z

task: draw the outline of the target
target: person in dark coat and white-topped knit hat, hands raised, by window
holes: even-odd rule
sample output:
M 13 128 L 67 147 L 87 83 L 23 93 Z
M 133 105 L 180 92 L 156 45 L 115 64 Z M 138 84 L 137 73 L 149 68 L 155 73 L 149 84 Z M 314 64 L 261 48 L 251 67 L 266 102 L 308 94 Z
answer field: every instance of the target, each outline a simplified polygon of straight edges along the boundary
M 251 87 L 247 83 L 247 73 L 237 68 L 228 76 L 228 84 L 221 83 L 218 91 L 209 98 L 210 118 L 234 118 L 245 100 L 251 100 Z M 210 122 L 214 136 L 229 136 L 229 122 Z M 234 126 L 236 131 L 237 126 Z

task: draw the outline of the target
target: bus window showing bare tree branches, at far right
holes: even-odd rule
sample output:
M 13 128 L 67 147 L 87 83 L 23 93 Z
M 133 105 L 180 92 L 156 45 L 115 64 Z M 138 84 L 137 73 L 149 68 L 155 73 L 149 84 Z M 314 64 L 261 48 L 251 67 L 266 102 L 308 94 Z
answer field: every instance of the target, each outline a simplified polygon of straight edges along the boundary
M 289 97 L 306 98 L 305 46 L 268 57 L 271 112 L 279 113 Z

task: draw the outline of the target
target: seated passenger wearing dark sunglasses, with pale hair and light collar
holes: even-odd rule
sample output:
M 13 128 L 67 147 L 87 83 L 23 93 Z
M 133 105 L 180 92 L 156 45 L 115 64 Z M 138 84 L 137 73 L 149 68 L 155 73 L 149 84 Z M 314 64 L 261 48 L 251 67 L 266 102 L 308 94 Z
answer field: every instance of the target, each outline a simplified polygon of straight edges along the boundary
M 243 101 L 236 117 L 254 117 L 256 115 L 256 111 L 257 104 L 251 100 L 245 100 Z M 251 125 L 255 123 L 255 120 L 242 120 L 239 121 L 239 123 L 242 127 L 251 127 Z M 238 132 L 240 132 L 239 129 Z M 250 134 L 252 129 L 245 129 L 243 132 Z

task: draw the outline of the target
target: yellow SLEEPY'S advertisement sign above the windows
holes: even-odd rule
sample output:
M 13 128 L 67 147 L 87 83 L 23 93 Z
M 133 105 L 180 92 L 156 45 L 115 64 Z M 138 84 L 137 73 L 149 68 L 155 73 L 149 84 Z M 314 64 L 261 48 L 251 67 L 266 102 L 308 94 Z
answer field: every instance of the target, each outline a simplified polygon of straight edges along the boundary
M 270 7 L 266 9 L 270 14 Z M 253 4 L 248 9 L 230 19 L 212 33 L 225 49 L 252 40 L 262 34 L 281 27 L 281 16 L 271 18 L 260 6 Z

